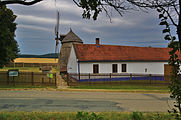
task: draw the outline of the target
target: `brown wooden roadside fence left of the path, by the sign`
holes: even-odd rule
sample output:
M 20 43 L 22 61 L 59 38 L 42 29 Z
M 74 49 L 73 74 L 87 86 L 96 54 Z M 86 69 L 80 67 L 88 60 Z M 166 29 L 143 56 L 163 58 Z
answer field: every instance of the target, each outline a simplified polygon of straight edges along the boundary
M 0 85 L 46 85 L 56 86 L 56 73 L 53 73 L 51 78 L 46 73 L 39 72 L 19 72 L 18 76 L 11 77 L 7 71 L 0 72 Z

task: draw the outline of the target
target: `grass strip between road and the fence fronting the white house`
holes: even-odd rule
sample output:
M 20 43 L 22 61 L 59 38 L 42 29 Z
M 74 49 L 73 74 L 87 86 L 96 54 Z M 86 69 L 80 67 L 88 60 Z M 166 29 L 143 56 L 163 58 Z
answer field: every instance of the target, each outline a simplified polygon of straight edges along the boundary
M 71 86 L 74 89 L 112 89 L 112 90 L 159 90 L 169 91 L 168 86 L 144 86 L 144 85 L 79 85 Z

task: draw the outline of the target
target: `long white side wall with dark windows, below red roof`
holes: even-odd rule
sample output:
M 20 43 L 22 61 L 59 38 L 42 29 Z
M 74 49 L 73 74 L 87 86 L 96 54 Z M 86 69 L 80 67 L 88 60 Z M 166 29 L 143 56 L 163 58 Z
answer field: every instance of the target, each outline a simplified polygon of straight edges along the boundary
M 112 64 L 118 64 L 118 73 L 122 73 L 121 65 L 127 64 L 127 73 L 164 74 L 167 62 L 80 62 L 80 73 L 93 73 L 93 64 L 99 64 L 99 73 L 112 73 Z M 145 72 L 147 69 L 147 72 Z

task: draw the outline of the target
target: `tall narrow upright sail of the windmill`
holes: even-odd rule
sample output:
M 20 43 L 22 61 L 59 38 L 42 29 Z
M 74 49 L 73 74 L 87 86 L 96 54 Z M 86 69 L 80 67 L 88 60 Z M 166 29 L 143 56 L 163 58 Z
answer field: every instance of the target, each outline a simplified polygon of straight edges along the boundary
M 57 53 L 57 49 L 58 49 L 58 44 L 59 44 L 59 18 L 60 18 L 60 14 L 59 14 L 59 11 L 57 11 L 57 23 L 55 25 L 55 40 L 56 40 L 56 43 L 55 43 L 55 53 Z

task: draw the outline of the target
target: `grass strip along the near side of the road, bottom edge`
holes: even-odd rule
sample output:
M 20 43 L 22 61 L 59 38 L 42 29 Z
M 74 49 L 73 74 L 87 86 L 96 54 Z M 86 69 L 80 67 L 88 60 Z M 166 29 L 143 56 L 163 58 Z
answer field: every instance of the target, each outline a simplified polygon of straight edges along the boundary
M 168 113 L 0 112 L 0 120 L 174 120 Z

